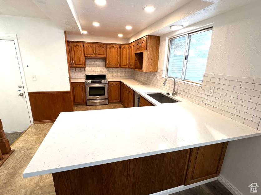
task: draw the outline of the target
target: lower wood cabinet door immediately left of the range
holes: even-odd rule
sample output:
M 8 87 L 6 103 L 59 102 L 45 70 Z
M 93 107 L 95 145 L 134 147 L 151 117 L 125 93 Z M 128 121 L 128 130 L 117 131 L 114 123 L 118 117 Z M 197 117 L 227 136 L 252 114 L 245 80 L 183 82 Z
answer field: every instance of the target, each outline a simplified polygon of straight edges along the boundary
M 84 82 L 72 82 L 73 104 L 86 104 L 86 92 Z

